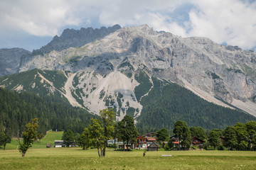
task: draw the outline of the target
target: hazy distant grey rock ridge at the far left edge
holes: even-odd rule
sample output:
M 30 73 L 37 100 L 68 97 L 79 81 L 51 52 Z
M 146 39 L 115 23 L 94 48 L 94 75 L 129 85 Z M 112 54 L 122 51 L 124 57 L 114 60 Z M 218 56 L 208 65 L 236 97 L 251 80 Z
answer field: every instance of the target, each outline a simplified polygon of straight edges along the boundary
M 0 77 L 17 73 L 21 57 L 30 53 L 21 48 L 0 49 Z

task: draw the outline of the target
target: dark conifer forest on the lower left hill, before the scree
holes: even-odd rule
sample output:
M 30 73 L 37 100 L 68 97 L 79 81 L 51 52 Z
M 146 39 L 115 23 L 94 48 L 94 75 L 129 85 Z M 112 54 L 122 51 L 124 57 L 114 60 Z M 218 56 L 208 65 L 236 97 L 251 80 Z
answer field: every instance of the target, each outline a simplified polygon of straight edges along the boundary
M 97 118 L 82 108 L 67 106 L 54 97 L 41 98 L 25 92 L 8 91 L 0 88 L 0 127 L 12 137 L 21 137 L 26 123 L 39 119 L 39 132 L 47 130 L 73 130 L 82 132 L 91 118 Z

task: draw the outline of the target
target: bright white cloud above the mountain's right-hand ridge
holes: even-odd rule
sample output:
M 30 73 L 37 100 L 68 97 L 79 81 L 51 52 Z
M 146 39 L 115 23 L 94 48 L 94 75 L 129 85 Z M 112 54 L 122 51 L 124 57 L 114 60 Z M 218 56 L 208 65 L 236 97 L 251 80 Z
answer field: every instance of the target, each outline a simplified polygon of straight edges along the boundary
M 188 35 L 204 36 L 246 49 L 256 45 L 255 4 L 243 4 L 238 0 L 197 0 L 195 4 L 199 11 L 189 13 L 192 30 Z

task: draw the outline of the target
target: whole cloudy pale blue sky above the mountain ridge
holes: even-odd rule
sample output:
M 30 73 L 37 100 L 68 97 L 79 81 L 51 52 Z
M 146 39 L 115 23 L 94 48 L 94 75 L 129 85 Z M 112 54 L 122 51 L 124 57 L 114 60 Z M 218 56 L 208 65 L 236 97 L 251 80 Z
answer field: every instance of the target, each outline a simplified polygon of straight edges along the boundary
M 182 37 L 256 47 L 255 0 L 1 0 L 0 48 L 38 49 L 65 28 L 145 23 Z

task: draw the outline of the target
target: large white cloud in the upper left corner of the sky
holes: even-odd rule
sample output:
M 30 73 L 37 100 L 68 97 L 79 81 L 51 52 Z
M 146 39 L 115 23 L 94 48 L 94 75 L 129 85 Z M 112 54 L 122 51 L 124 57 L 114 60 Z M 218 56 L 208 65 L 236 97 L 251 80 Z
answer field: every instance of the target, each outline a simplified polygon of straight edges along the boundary
M 65 1 L 1 1 L 0 29 L 23 30 L 31 35 L 58 34 L 58 28 L 81 22 Z

